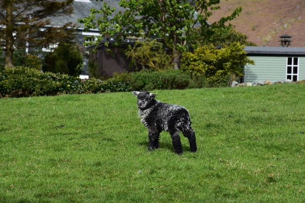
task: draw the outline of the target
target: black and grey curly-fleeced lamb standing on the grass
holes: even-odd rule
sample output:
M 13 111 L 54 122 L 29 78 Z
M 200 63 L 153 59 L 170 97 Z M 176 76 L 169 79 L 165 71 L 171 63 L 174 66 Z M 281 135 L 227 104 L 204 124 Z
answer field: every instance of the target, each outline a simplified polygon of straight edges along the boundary
M 191 119 L 186 108 L 155 100 L 156 95 L 150 92 L 133 91 L 133 94 L 138 99 L 138 116 L 149 130 L 149 151 L 159 148 L 162 130 L 170 133 L 176 154 L 182 154 L 179 131 L 182 131 L 183 135 L 189 139 L 191 152 L 197 151 L 195 132 L 191 128 Z

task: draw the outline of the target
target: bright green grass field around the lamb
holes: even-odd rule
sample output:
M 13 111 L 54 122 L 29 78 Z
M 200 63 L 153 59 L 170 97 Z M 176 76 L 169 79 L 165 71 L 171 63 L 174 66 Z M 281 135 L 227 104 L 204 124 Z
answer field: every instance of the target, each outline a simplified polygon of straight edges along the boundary
M 131 92 L 0 99 L 0 203 L 305 202 L 305 85 L 152 91 L 196 153 L 147 151 Z

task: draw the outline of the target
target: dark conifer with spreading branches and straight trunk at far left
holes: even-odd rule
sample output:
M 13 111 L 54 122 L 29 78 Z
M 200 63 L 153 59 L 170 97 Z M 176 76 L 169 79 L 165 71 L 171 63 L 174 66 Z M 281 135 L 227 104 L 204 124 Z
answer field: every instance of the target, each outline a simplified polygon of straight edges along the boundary
M 73 0 L 0 0 L 0 38 L 5 40 L 5 67 L 14 65 L 15 49 L 74 38 L 72 23 L 63 27 L 48 26 L 50 17 L 71 14 L 72 3 Z

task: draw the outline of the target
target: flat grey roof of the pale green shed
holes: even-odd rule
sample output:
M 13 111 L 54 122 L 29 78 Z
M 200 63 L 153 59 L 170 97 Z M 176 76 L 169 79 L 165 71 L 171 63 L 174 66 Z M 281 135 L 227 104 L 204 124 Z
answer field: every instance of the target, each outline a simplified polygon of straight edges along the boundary
M 248 55 L 296 55 L 305 56 L 304 47 L 254 47 L 246 46 Z

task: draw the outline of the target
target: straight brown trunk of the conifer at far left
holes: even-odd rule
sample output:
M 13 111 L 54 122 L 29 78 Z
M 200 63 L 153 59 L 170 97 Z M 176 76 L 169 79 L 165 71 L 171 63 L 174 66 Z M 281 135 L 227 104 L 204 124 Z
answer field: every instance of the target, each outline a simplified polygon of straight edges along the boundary
M 6 29 L 5 29 L 5 68 L 13 67 L 14 52 L 14 21 L 13 21 L 13 2 L 8 0 L 4 5 L 6 8 Z

